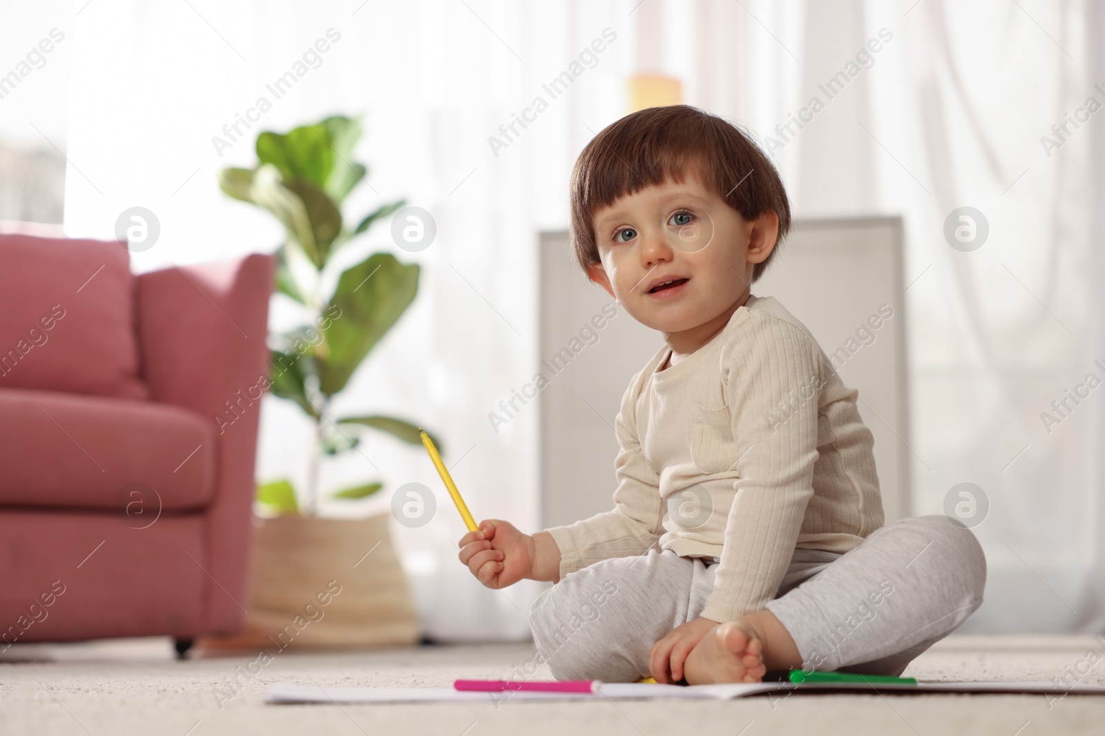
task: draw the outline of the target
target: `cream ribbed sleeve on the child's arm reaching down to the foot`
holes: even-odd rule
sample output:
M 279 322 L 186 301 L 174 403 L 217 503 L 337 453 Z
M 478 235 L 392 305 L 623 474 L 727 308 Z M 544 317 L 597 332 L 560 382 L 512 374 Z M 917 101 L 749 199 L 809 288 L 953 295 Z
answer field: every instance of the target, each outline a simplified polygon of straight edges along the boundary
M 725 401 L 738 459 L 725 546 L 704 618 L 727 621 L 778 595 L 813 497 L 820 350 L 799 328 L 756 316 L 727 345 Z

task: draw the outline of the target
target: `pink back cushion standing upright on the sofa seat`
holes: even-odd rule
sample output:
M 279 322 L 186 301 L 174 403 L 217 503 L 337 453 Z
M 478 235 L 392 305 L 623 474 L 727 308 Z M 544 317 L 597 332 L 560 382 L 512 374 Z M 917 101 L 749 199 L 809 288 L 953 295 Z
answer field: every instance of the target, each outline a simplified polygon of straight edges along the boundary
M 117 242 L 0 235 L 0 388 L 148 398 Z

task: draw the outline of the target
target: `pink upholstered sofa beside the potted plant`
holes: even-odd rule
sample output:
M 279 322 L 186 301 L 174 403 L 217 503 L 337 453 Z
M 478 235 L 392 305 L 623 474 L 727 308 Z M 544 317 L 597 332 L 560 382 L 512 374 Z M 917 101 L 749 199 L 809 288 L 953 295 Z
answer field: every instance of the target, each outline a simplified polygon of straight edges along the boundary
M 0 661 L 241 626 L 272 282 L 270 256 L 133 276 L 125 244 L 0 235 Z

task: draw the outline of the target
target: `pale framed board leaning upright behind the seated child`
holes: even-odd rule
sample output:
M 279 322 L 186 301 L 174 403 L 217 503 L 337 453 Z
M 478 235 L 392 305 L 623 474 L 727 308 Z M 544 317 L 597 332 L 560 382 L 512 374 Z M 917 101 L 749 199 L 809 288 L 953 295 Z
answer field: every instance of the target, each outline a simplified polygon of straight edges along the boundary
M 540 508 L 541 524 L 554 526 L 612 508 L 614 417 L 663 339 L 587 279 L 567 232 L 541 233 L 539 247 Z M 751 291 L 802 321 L 859 390 L 886 523 L 911 515 L 902 218 L 798 221 Z

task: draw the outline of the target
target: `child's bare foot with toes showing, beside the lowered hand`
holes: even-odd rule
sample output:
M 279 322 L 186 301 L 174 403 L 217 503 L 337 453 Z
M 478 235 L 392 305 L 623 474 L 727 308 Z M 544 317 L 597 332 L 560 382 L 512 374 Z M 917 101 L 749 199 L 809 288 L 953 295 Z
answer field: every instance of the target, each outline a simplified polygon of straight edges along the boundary
M 684 676 L 692 685 L 759 682 L 767 673 L 764 642 L 750 621 L 718 623 L 687 654 Z

